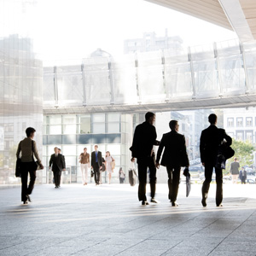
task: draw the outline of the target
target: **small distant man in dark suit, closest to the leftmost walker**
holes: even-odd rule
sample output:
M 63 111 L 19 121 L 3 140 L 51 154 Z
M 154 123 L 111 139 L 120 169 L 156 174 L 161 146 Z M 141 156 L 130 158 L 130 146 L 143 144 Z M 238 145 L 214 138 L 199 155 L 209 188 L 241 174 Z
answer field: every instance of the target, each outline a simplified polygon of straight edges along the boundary
M 52 167 L 51 167 L 52 166 Z M 59 154 L 59 148 L 55 147 L 55 154 L 50 156 L 49 170 L 52 170 L 55 178 L 55 189 L 60 188 L 61 184 L 61 172 L 66 170 L 65 161 L 62 154 Z

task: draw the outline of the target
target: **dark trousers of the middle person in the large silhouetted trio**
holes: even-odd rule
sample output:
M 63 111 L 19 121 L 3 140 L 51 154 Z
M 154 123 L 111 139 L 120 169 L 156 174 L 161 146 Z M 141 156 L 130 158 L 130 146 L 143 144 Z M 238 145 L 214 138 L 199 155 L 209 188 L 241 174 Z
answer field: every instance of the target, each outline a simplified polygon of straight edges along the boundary
M 175 202 L 177 200 L 177 191 L 180 179 L 180 166 L 170 167 L 167 166 L 168 173 L 168 188 L 169 188 L 169 200 Z

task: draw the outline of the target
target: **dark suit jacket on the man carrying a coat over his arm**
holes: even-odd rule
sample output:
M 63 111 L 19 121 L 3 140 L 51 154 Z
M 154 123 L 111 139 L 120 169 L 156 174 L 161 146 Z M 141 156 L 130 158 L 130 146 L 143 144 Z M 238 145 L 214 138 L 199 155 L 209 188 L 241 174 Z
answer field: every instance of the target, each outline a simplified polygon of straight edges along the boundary
M 211 163 L 215 165 L 218 155 L 218 146 L 224 141 L 227 145 L 232 144 L 232 138 L 226 134 L 224 129 L 219 129 L 215 125 L 210 125 L 201 132 L 200 154 L 202 163 Z

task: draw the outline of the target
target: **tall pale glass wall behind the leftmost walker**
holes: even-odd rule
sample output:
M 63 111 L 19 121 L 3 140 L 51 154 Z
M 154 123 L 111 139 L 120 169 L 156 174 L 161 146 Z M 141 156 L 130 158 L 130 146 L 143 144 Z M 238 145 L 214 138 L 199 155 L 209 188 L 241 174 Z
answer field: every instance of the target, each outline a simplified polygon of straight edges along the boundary
M 0 1 L 0 184 L 20 183 L 15 153 L 28 126 L 36 129 L 42 154 L 43 65 L 28 32 L 33 3 Z M 38 183 L 43 175 L 38 172 Z

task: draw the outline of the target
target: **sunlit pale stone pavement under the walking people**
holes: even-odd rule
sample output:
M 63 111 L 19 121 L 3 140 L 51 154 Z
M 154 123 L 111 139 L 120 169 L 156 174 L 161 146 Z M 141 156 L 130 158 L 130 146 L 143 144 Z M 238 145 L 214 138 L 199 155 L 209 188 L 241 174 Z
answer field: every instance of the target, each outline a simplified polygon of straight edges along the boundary
M 224 207 L 214 194 L 203 208 L 201 185 L 186 198 L 182 184 L 171 207 L 157 184 L 143 207 L 128 184 L 36 185 L 23 206 L 20 187 L 0 189 L 0 255 L 256 255 L 256 185 L 224 184 Z

